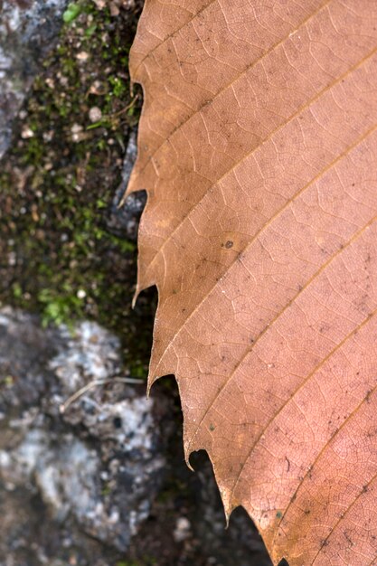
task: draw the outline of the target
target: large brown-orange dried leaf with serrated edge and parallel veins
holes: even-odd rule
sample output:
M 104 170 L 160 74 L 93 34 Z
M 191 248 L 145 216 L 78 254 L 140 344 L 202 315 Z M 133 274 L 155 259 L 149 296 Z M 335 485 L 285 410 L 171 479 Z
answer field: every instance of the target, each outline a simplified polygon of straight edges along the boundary
M 274 563 L 377 564 L 377 2 L 147 0 L 150 384 Z

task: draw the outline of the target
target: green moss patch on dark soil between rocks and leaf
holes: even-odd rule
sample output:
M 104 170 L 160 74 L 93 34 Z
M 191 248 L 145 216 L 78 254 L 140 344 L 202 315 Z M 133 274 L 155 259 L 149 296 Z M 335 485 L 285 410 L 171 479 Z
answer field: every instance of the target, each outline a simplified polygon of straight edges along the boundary
M 95 318 L 123 337 L 130 372 L 145 376 L 154 304 L 142 299 L 131 312 L 136 245 L 105 222 L 125 134 L 139 114 L 127 74 L 135 27 L 89 0 L 79 12 L 72 6 L 24 108 L 20 129 L 32 136 L 14 140 L 0 174 L 0 252 L 8 258 L 0 300 L 40 312 L 44 325 Z M 103 117 L 96 124 L 93 106 Z

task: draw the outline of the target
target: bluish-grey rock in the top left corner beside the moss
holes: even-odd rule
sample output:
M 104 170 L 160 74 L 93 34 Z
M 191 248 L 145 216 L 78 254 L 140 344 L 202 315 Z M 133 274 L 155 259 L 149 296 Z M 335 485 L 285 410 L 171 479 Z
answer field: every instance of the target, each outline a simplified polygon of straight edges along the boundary
M 57 41 L 66 5 L 67 0 L 5 0 L 0 5 L 0 157 L 43 57 Z

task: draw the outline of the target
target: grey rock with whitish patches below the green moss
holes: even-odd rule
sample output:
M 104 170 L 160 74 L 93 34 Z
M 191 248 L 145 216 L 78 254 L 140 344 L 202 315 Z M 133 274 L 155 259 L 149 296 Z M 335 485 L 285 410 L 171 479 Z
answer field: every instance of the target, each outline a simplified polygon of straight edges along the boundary
M 118 347 L 96 323 L 43 329 L 35 316 L 0 311 L 0 501 L 26 487 L 56 528 L 71 524 L 125 552 L 161 486 L 165 458 L 156 400 L 146 400 L 144 384 L 123 381 Z M 0 555 L 9 540 L 20 552 L 33 542 L 18 529 L 15 513 Z

